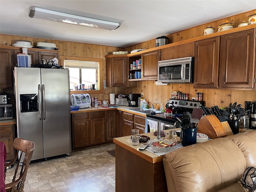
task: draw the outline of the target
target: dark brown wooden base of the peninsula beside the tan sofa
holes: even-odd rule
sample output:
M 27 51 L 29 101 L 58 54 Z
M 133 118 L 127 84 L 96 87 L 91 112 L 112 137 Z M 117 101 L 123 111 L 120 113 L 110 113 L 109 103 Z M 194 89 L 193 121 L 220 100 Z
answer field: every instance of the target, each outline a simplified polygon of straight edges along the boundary
M 163 162 L 152 163 L 116 143 L 116 192 L 167 192 Z

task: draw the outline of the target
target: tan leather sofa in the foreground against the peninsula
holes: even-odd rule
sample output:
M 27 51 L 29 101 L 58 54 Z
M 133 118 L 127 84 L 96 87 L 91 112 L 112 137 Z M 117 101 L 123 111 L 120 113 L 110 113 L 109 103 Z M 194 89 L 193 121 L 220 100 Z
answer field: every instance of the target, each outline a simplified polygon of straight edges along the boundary
M 163 163 L 168 192 L 246 192 L 240 180 L 256 167 L 256 130 L 180 148 Z

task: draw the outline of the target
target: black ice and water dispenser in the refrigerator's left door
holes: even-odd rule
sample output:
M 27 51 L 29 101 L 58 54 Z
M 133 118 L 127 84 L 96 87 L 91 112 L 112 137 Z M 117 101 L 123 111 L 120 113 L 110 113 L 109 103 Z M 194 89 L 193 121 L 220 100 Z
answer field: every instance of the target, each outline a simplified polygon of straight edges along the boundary
M 38 94 L 20 94 L 20 112 L 38 111 Z

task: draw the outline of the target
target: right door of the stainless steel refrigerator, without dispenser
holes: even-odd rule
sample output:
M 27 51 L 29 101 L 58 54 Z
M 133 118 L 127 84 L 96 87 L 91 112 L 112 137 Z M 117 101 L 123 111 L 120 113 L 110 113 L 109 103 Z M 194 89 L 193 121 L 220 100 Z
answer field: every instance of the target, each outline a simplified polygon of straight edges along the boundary
M 44 158 L 71 153 L 68 69 L 41 68 Z

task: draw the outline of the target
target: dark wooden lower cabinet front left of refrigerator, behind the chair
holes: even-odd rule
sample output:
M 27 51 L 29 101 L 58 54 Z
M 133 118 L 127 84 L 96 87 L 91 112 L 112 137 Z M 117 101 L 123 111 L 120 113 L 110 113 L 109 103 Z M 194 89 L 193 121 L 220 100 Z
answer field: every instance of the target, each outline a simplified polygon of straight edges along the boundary
M 14 141 L 14 125 L 3 125 L 0 128 L 0 141 L 4 142 L 7 158 L 6 160 L 13 160 L 15 157 L 13 141 Z

